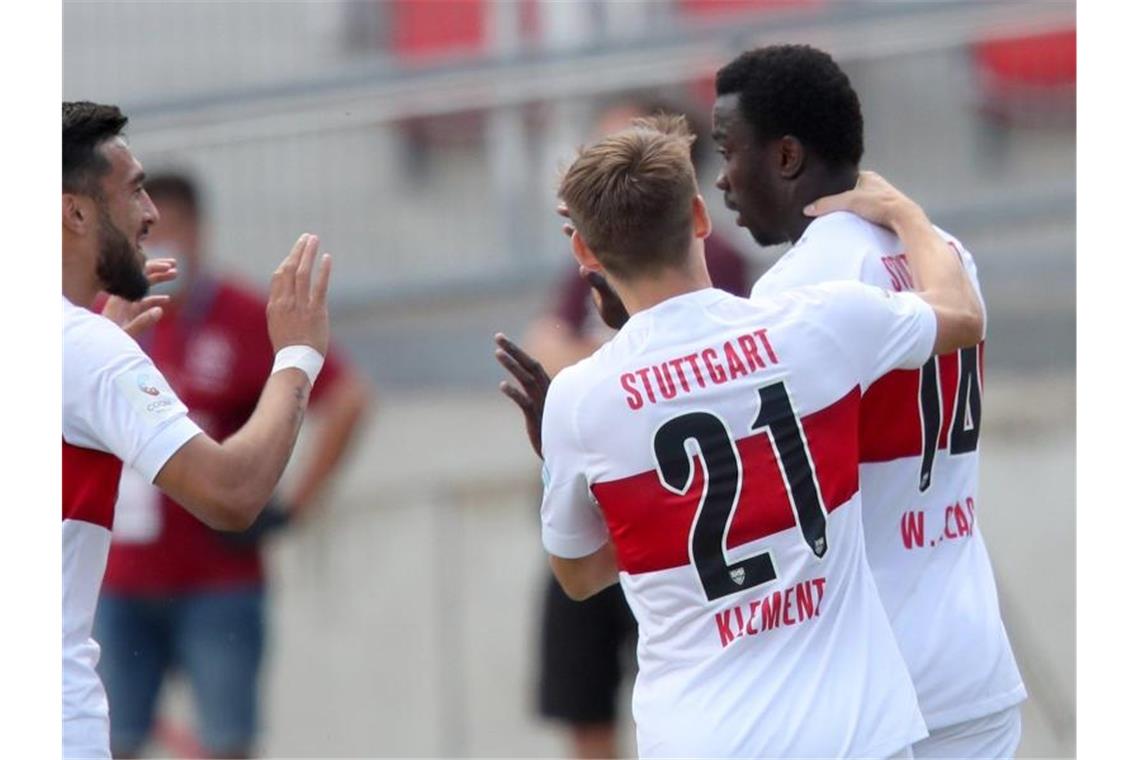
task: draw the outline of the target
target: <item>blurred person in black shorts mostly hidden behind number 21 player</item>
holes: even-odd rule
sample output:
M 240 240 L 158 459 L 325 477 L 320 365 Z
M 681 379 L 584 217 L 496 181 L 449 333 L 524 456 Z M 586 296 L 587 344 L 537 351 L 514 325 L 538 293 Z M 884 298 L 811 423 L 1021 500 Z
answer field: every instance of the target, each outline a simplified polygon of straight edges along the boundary
M 618 101 L 602 111 L 597 133 L 624 129 L 637 116 L 686 111 L 656 100 Z M 686 117 L 698 134 L 693 163 L 700 177 L 709 130 L 703 120 L 687 113 Z M 748 296 L 755 277 L 740 252 L 714 232 L 705 240 L 705 255 L 716 287 Z M 552 304 L 552 311 L 530 326 L 524 344 L 553 377 L 592 354 L 613 330 L 602 322 L 577 265 L 559 280 Z M 617 696 L 622 676 L 636 667 L 636 630 L 619 586 L 573 602 L 549 574 L 542 612 L 538 709 L 545 718 L 568 726 L 572 757 L 618 757 Z

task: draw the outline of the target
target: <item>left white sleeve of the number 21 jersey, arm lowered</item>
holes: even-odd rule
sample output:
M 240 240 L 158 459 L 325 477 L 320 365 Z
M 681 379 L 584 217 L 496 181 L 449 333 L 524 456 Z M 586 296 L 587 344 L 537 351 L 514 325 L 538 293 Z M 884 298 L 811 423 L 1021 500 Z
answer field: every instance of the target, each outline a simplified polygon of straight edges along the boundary
M 591 555 L 609 540 L 586 477 L 572 379 L 569 369 L 555 376 L 543 412 L 543 546 L 567 559 Z

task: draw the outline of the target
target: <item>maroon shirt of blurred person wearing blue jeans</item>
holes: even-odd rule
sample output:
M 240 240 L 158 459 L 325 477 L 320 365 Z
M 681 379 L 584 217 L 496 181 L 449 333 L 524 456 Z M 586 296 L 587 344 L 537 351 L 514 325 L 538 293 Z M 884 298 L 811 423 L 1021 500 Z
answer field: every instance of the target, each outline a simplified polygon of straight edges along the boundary
M 190 418 L 214 440 L 237 432 L 258 403 L 274 363 L 266 301 L 233 281 L 203 279 L 176 311 L 139 341 Z M 312 389 L 318 402 L 336 384 L 343 365 L 325 358 Z M 226 541 L 163 495 L 161 530 L 149 542 L 112 540 L 104 587 L 127 594 L 172 594 L 262 581 L 256 545 Z

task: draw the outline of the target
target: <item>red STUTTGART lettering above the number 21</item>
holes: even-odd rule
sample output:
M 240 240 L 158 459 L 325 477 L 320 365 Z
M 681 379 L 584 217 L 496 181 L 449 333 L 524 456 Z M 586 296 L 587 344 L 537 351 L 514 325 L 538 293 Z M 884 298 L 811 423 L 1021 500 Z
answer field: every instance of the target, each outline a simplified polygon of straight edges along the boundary
M 657 403 L 659 398 L 673 399 L 678 392 L 692 393 L 694 387 L 705 387 L 710 383 L 720 385 L 768 365 L 777 365 L 780 359 L 768 342 L 767 333 L 767 329 L 744 333 L 717 346 L 625 373 L 619 382 L 626 392 L 626 403 L 636 411 L 645 406 L 646 400 Z M 653 382 L 650 382 L 650 373 L 653 374 Z

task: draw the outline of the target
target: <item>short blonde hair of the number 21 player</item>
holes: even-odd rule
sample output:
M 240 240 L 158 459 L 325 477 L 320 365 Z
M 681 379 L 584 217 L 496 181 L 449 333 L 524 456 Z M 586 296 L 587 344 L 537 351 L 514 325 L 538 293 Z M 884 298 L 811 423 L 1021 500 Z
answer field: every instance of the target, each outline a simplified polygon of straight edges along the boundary
M 629 278 L 684 262 L 698 193 L 694 139 L 684 116 L 659 114 L 578 152 L 559 196 L 608 271 Z

